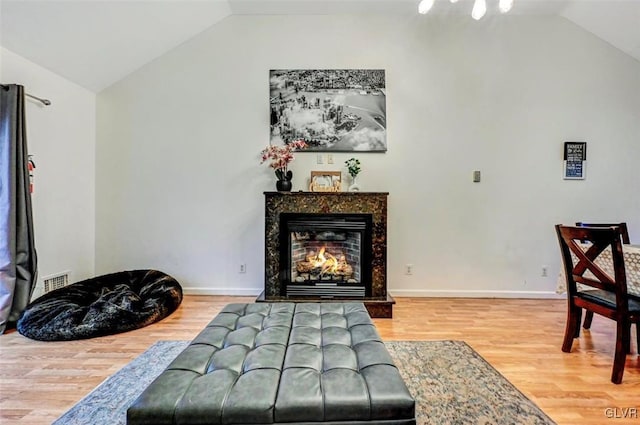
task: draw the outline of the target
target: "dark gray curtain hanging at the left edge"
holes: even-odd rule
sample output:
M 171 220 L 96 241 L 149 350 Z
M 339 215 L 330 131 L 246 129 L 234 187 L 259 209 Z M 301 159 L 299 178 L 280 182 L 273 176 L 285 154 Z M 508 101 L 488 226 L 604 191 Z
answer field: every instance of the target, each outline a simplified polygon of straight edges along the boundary
M 37 278 L 24 87 L 0 86 L 0 333 L 14 327 Z

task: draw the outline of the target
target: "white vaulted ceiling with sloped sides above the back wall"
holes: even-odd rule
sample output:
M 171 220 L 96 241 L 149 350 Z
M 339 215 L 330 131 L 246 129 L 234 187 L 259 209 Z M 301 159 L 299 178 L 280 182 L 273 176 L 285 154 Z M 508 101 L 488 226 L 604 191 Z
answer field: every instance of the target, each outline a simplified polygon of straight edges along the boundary
M 0 0 L 0 45 L 99 92 L 233 14 L 415 15 L 418 1 Z M 437 0 L 431 13 L 472 3 Z M 515 0 L 509 13 L 562 16 L 640 61 L 640 0 Z

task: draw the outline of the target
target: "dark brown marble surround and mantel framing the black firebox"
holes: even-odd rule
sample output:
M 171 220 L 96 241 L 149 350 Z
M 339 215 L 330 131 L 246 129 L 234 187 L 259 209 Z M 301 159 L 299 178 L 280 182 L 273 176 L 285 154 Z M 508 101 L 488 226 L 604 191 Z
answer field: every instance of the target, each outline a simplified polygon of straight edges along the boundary
M 392 316 L 395 301 L 387 293 L 387 198 L 386 192 L 265 192 L 265 290 L 257 301 L 340 302 L 340 297 L 317 299 L 287 297 L 280 279 L 280 215 L 370 214 L 371 277 L 367 294 L 361 299 L 371 317 Z

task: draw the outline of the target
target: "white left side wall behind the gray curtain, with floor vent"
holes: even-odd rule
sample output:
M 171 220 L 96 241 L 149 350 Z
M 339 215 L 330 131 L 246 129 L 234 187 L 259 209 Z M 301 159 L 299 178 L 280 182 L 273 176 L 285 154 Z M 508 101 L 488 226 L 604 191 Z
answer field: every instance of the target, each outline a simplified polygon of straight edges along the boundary
M 27 143 L 34 155 L 32 195 L 38 284 L 69 271 L 70 280 L 93 276 L 95 266 L 96 96 L 80 86 L 0 48 L 2 82 L 51 100 L 27 99 Z

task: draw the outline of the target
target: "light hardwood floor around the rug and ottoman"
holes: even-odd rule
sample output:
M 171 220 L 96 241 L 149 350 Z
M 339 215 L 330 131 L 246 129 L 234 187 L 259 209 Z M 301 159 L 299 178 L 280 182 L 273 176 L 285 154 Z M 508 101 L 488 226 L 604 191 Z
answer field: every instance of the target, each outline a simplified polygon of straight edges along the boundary
M 186 296 L 160 323 L 85 341 L 0 336 L 0 423 L 50 424 L 155 341 L 191 340 L 225 304 L 253 301 Z M 385 340 L 466 341 L 558 424 L 640 424 L 635 338 L 614 385 L 614 322 L 595 317 L 566 354 L 565 312 L 564 300 L 397 298 L 394 318 L 374 321 Z

